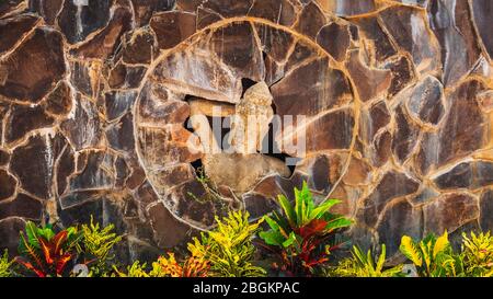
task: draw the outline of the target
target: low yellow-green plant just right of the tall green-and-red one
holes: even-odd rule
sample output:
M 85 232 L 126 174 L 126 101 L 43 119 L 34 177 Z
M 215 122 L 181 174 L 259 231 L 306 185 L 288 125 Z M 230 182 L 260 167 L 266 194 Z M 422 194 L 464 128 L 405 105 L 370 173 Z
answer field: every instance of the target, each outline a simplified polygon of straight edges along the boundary
M 354 245 L 352 257 L 344 258 L 339 266 L 331 269 L 330 276 L 343 277 L 397 277 L 403 276 L 402 265 L 385 268 L 386 245 L 381 245 L 380 255 L 374 257 L 370 250 L 365 254 L 359 246 Z

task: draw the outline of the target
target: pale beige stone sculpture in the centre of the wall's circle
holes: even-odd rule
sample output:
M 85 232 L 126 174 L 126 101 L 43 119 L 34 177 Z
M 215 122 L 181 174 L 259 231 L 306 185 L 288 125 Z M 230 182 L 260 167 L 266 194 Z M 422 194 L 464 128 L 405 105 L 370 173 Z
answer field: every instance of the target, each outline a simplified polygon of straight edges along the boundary
M 260 82 L 246 90 L 233 111 L 230 106 L 225 106 L 227 104 L 211 101 L 202 100 L 191 103 L 192 126 L 196 129 L 205 148 L 204 171 L 216 186 L 228 186 L 241 194 L 253 188 L 261 177 L 268 174 L 290 175 L 289 169 L 283 161 L 256 152 L 262 148 L 262 140 L 268 133 L 268 124 L 274 115 L 272 100 L 267 84 Z M 211 115 L 204 115 L 203 113 L 206 112 Z M 231 117 L 228 141 L 232 152 L 218 150 L 221 140 L 210 140 L 214 134 L 205 116 Z M 205 127 L 207 129 L 204 129 Z

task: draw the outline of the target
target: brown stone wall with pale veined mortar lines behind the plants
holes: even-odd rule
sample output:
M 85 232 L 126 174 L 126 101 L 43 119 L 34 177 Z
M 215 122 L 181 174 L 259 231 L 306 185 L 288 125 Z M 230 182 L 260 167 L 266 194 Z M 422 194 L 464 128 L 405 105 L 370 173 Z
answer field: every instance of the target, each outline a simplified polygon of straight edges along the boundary
M 0 248 L 25 220 L 93 215 L 145 258 L 303 180 L 390 254 L 493 229 L 492 20 L 490 0 L 2 0 Z M 261 81 L 277 115 L 307 116 L 307 157 L 192 152 L 191 114 Z M 249 189 L 197 200 L 206 160 Z

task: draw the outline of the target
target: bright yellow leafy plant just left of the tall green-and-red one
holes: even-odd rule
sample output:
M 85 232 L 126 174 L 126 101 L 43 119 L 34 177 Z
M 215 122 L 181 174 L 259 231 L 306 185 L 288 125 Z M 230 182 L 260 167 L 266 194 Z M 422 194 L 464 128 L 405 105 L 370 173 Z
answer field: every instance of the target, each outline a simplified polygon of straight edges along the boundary
M 210 263 L 209 276 L 254 277 L 264 276 L 265 271 L 253 265 L 255 248 L 252 239 L 261 221 L 249 222 L 249 214 L 230 211 L 220 220 L 216 217 L 217 228 L 202 233 L 200 240 L 194 238 L 188 244 L 193 256 Z

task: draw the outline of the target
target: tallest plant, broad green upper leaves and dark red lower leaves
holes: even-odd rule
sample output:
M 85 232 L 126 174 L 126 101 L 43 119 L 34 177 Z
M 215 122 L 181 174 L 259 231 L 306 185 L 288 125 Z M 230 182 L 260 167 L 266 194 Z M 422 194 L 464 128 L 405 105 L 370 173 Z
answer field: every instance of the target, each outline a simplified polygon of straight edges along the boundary
M 337 199 L 316 205 L 307 183 L 301 189 L 295 188 L 294 206 L 284 195 L 278 196 L 278 202 L 284 214 L 274 211 L 272 217 L 265 216 L 271 229 L 260 237 L 279 254 L 280 265 L 274 264 L 276 269 L 288 276 L 309 276 L 341 245 L 329 245 L 329 239 L 352 221 L 330 212 L 340 203 Z

